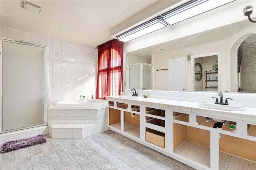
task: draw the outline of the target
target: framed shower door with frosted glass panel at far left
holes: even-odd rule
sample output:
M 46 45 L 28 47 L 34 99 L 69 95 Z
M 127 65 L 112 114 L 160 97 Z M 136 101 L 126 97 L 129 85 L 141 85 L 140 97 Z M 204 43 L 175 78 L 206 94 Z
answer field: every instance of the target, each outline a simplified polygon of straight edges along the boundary
M 49 48 L 1 38 L 0 133 L 47 124 Z

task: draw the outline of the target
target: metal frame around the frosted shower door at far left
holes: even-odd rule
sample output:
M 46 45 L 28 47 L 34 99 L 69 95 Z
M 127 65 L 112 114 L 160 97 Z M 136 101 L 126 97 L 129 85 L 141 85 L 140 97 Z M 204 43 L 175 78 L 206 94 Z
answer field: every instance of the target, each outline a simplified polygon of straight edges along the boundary
M 30 45 L 30 46 L 34 46 L 34 47 L 41 47 L 44 49 L 44 84 L 42 84 L 43 88 L 44 88 L 44 123 L 41 125 L 34 125 L 34 126 L 30 126 L 30 127 L 23 127 L 23 128 L 18 128 L 18 129 L 12 129 L 12 130 L 8 130 L 8 131 L 2 131 L 3 129 L 3 107 L 2 107 L 2 91 L 3 91 L 3 87 L 2 87 L 2 42 L 6 41 L 6 42 L 10 42 L 10 43 L 17 43 L 17 44 L 22 44 L 22 45 Z M 33 127 L 40 127 L 40 126 L 45 126 L 48 125 L 48 106 L 49 106 L 49 87 L 50 87 L 50 82 L 49 82 L 49 47 L 46 45 L 39 45 L 39 44 L 34 44 L 34 43 L 29 43 L 29 42 L 25 42 L 25 41 L 19 41 L 19 40 L 12 40 L 12 39 L 6 39 L 6 38 L 2 38 L 0 37 L 0 46 L 1 46 L 1 60 L 0 60 L 0 83 L 1 83 L 1 90 L 0 90 L 0 133 L 7 133 L 7 132 L 11 132 L 11 131 L 18 131 L 18 130 L 23 130 L 23 129 L 29 129 L 29 128 L 33 128 Z

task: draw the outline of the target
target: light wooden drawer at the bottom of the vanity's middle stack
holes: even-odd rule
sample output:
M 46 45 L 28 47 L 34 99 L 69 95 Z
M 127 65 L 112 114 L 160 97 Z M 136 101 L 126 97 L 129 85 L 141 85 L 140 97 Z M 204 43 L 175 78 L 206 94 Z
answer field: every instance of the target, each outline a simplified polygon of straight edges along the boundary
M 159 147 L 165 147 L 164 133 L 149 129 L 146 131 L 146 141 L 153 143 Z

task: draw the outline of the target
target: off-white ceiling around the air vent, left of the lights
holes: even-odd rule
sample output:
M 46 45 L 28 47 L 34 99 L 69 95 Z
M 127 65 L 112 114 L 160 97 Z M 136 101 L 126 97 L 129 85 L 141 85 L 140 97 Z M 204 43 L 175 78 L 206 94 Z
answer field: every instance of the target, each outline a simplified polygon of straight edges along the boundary
M 28 0 L 41 14 L 20 7 L 20 0 L 0 0 L 0 24 L 91 47 L 105 43 L 110 29 L 158 0 Z

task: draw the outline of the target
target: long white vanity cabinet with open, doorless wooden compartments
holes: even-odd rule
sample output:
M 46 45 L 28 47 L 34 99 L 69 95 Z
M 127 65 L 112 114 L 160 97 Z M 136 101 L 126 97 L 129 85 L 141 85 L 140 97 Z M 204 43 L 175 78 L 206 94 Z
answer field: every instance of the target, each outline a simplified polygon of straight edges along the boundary
M 242 114 L 240 119 L 238 112 L 200 109 L 194 102 L 118 96 L 108 101 L 112 131 L 189 166 L 214 170 L 256 166 L 255 119 L 243 120 Z M 216 120 L 227 124 L 214 128 Z

